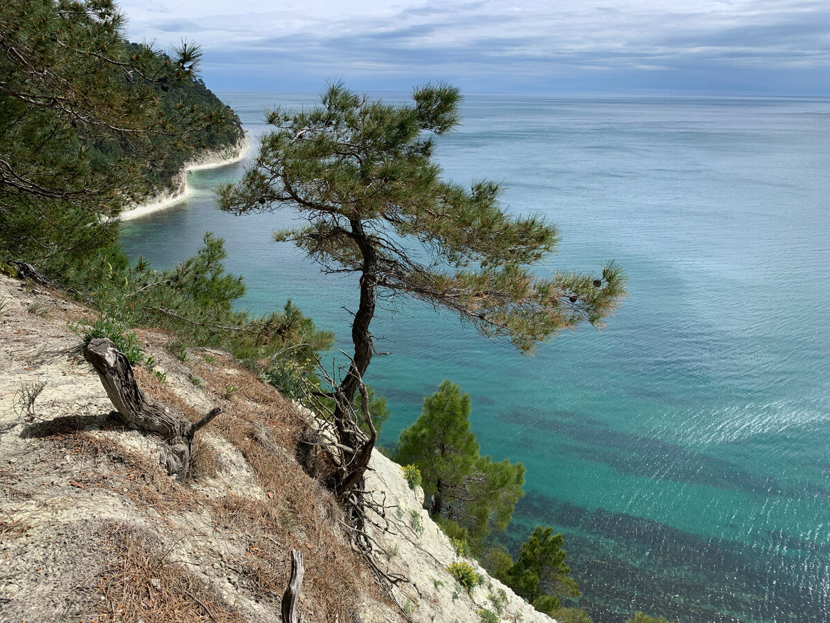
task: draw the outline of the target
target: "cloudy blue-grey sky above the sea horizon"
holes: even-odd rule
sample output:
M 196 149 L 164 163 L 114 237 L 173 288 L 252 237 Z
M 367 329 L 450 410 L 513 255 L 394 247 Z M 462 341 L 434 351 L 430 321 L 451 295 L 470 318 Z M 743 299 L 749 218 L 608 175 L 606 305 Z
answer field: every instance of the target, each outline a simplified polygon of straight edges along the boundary
M 828 0 L 121 0 L 214 89 L 830 95 Z

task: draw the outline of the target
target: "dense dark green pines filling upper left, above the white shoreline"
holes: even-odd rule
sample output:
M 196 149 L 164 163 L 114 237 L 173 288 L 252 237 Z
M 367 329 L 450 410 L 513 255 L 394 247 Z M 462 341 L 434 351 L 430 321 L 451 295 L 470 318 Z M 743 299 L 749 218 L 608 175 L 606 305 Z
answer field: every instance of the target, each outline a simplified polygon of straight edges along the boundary
M 83 262 L 203 138 L 242 136 L 215 96 L 193 99 L 198 51 L 128 44 L 123 24 L 112 0 L 0 4 L 0 256 Z

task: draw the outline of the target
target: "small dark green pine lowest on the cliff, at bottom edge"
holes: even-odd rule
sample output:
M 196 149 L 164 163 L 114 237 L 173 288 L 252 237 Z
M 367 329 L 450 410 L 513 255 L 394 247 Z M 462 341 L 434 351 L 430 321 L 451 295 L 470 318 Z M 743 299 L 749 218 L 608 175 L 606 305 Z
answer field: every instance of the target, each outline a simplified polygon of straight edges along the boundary
M 536 610 L 550 614 L 561 604 L 559 597 L 579 597 L 579 587 L 565 564 L 564 539 L 552 527 L 537 526 L 519 551 L 505 581 Z

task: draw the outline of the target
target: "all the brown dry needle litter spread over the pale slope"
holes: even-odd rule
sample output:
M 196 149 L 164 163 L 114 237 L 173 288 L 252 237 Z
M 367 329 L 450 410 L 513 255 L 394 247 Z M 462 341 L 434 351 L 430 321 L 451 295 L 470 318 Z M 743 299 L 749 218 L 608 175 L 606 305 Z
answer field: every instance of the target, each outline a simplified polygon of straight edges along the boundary
M 163 341 L 162 334 L 147 333 L 142 341 Z M 237 561 L 242 584 L 263 603 L 276 606 L 291 572 L 292 548 L 303 552 L 305 581 L 300 607 L 306 619 L 317 623 L 352 621 L 361 596 L 385 601 L 374 577 L 351 547 L 340 526 L 343 513 L 334 498 L 306 475 L 294 459 L 297 439 L 306 424 L 295 407 L 271 386 L 258 380 L 230 356 L 211 353 L 209 364 L 201 356 L 186 365 L 205 381 L 212 401 L 224 413 L 196 435 L 193 442 L 192 482 L 217 475 L 217 450 L 204 432 L 212 430 L 234 445 L 250 464 L 265 499 L 228 493 L 207 498 L 175 483 L 149 456 L 112 444 L 100 434 L 79 431 L 68 422 L 54 430 L 61 444 L 105 460 L 110 474 L 105 485 L 131 498 L 142 508 L 154 508 L 163 517 L 185 510 L 207 509 L 217 532 L 235 542 L 241 539 L 245 557 Z M 149 398 L 198 419 L 200 414 L 173 389 L 139 366 L 136 380 Z M 227 387 L 237 388 L 231 395 Z M 71 438 L 71 439 L 70 439 Z M 148 536 L 117 532 L 110 538 L 115 567 L 102 580 L 108 611 L 100 621 L 243 621 L 241 615 L 222 609 L 206 595 L 193 576 L 171 564 Z M 155 580 L 155 582 L 153 582 Z M 159 588 L 159 581 L 161 582 Z M 208 611 L 212 613 L 208 614 Z

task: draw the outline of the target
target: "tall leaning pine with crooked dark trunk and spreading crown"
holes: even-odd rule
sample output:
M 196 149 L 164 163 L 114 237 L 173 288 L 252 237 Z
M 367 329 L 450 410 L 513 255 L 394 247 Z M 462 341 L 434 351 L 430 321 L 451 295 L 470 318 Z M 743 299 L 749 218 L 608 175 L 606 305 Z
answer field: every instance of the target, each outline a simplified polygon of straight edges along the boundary
M 297 210 L 305 225 L 276 240 L 295 243 L 324 272 L 360 276 L 354 355 L 332 391 L 337 447 L 347 450 L 327 484 L 341 501 L 359 489 L 376 436 L 368 410 L 364 434 L 351 405 L 364 392 L 374 354 L 369 326 L 378 296 L 456 312 L 482 335 L 505 336 L 529 352 L 582 321 L 602 326 L 625 293 L 613 262 L 597 275 L 536 277 L 530 266 L 554 250 L 556 228 L 507 213 L 497 184 L 465 189 L 441 178 L 433 135 L 459 124 L 460 101 L 446 85 L 415 89 L 408 105 L 330 86 L 315 108 L 271 111 L 267 121 L 276 129 L 262 137 L 255 164 L 220 189 L 231 213 Z

